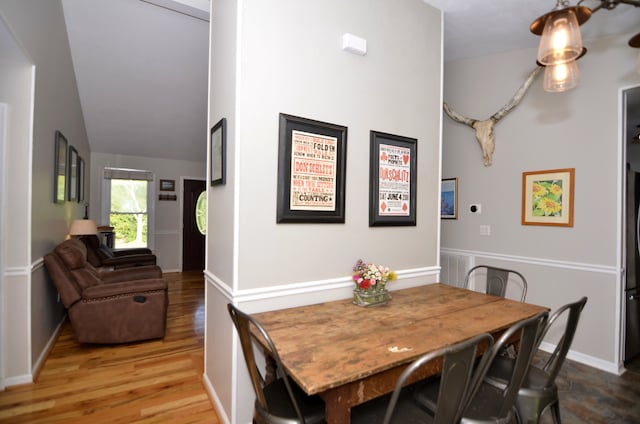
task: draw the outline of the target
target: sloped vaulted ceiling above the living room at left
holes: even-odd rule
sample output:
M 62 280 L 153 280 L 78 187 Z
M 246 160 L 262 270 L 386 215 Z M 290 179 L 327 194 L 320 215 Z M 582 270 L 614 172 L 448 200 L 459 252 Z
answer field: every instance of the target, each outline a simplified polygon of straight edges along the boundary
M 63 0 L 91 150 L 203 161 L 209 23 L 139 0 Z

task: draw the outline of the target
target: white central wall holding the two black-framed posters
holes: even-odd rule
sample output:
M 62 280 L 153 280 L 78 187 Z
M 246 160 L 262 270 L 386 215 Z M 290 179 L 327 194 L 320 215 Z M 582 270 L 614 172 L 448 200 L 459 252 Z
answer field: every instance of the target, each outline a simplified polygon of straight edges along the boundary
M 359 257 L 398 270 L 395 288 L 437 279 L 441 16 L 419 0 L 222 0 L 211 28 L 209 119 L 228 120 L 229 167 L 209 189 L 205 373 L 221 413 L 249 422 L 227 302 L 348 297 Z M 367 39 L 366 56 L 341 50 L 347 32 Z M 348 127 L 344 224 L 276 224 L 281 112 Z M 368 226 L 370 130 L 418 139 L 415 227 Z

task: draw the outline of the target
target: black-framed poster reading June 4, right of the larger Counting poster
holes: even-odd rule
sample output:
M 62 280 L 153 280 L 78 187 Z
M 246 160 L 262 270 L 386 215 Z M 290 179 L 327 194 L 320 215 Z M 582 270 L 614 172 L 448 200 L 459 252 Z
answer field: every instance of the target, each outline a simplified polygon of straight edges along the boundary
M 418 140 L 370 132 L 369 226 L 415 226 Z

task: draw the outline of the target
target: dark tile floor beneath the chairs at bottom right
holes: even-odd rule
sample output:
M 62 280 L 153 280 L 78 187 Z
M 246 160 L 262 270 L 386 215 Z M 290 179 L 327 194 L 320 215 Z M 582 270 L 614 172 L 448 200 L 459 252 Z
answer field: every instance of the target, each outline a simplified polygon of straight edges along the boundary
M 536 356 L 540 364 L 548 357 Z M 564 424 L 640 423 L 640 358 L 627 364 L 621 376 L 566 360 L 558 379 L 560 414 Z M 553 423 L 545 412 L 541 423 Z

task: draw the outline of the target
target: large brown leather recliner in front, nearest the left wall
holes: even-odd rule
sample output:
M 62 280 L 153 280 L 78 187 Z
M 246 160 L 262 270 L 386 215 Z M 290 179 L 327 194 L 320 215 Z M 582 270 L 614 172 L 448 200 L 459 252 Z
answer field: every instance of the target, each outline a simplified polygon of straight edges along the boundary
M 127 343 L 164 337 L 169 298 L 157 266 L 99 272 L 85 245 L 70 239 L 45 266 L 81 343 Z

